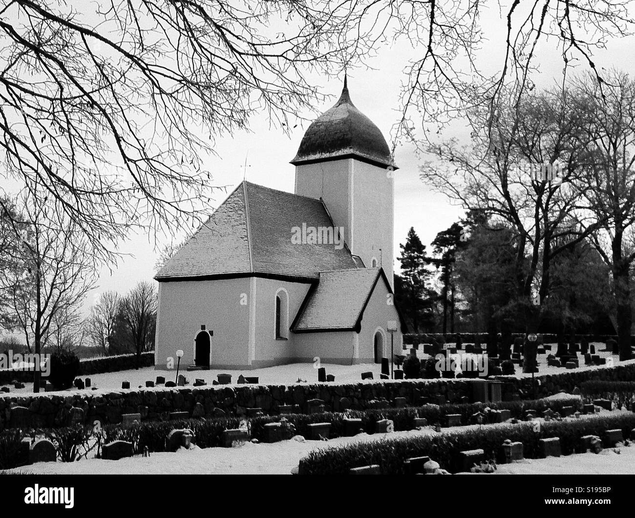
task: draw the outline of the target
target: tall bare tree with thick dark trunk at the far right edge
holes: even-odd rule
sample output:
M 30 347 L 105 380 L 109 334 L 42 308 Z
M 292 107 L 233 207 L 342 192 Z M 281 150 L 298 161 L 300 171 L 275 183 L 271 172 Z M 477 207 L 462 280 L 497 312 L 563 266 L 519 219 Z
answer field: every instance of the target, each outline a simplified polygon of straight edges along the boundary
M 599 222 L 592 242 L 611 268 L 620 360 L 628 360 L 630 271 L 635 261 L 635 81 L 611 71 L 604 83 L 587 75 L 578 78 L 574 88 L 587 118 L 584 131 L 589 142 L 589 167 L 578 182 L 588 208 L 580 214 L 580 224 Z

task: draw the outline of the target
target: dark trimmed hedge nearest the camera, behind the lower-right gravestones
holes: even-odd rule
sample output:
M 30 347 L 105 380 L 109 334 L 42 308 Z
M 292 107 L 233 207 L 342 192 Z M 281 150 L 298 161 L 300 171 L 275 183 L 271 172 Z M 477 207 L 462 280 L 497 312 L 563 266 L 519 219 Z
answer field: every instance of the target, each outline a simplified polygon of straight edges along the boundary
M 565 455 L 582 453 L 581 438 L 584 435 L 601 437 L 606 430 L 620 428 L 629 437 L 635 428 L 635 414 L 618 416 L 593 416 L 588 419 L 547 421 L 540 432 L 533 431 L 533 423 L 502 425 L 486 428 L 469 428 L 454 433 L 423 437 L 399 437 L 396 439 L 358 442 L 336 448 L 314 450 L 300 460 L 301 475 L 347 475 L 351 468 L 378 464 L 382 474 L 403 474 L 406 459 L 429 456 L 441 468 L 457 472 L 458 452 L 471 449 L 485 450 L 486 459 L 502 461 L 502 444 L 505 439 L 522 442 L 525 458 L 538 457 L 538 440 L 559 437 L 561 451 Z

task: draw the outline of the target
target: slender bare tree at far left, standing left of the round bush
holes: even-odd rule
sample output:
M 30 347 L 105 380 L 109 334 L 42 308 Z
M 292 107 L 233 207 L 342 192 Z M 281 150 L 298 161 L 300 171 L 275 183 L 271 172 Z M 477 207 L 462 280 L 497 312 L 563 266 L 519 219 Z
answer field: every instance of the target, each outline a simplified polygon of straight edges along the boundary
M 24 191 L 18 209 L 25 226 L 19 247 L 25 269 L 0 271 L 0 286 L 28 350 L 39 354 L 95 285 L 95 256 L 83 231 L 39 191 Z M 34 392 L 39 392 L 39 378 L 36 371 Z

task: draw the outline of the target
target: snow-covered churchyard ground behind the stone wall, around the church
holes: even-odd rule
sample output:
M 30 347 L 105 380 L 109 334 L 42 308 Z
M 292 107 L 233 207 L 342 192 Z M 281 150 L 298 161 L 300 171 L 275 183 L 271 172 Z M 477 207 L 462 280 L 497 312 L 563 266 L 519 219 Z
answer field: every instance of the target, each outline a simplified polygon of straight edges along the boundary
M 601 351 L 605 347 L 605 344 L 596 343 L 596 354 L 600 357 L 612 358 L 613 365 L 624 365 L 629 363 L 635 363 L 635 360 L 629 360 L 627 362 L 620 362 L 617 355 Z M 549 352 L 549 351 L 547 351 Z M 555 346 L 554 350 L 555 352 Z M 422 351 L 418 353 L 421 358 L 427 358 L 428 355 L 424 355 Z M 591 366 L 584 365 L 582 356 L 580 358 L 579 369 L 573 370 L 585 370 L 585 369 L 605 369 L 604 366 Z M 544 374 L 559 374 L 561 372 L 568 372 L 563 367 L 551 367 L 547 365 L 546 355 L 539 355 L 538 362 L 540 364 L 540 372 L 538 375 Z M 362 372 L 373 372 L 373 377 L 379 379 L 381 372 L 381 365 L 379 364 L 358 364 L 358 365 L 335 365 L 335 364 L 321 364 L 321 367 L 326 367 L 327 374 L 335 375 L 335 383 L 357 383 L 361 381 Z M 608 367 L 608 365 L 607 365 Z M 190 385 L 194 383 L 194 379 L 204 379 L 208 385 L 211 385 L 212 381 L 217 379 L 218 374 L 231 374 L 232 383 L 236 383 L 240 374 L 243 376 L 258 376 L 259 383 L 264 385 L 291 385 L 296 383 L 298 379 L 313 383 L 318 381 L 318 365 L 313 363 L 305 364 L 288 364 L 288 365 L 276 365 L 275 367 L 265 367 L 263 369 L 253 369 L 251 371 L 226 371 L 211 369 L 210 371 L 191 371 L 188 372 L 184 369 L 180 370 L 180 374 L 184 374 L 190 382 Z M 106 372 L 104 374 L 92 374 L 88 376 L 91 378 L 91 385 L 101 390 L 121 390 L 122 381 L 130 381 L 130 388 L 135 389 L 139 386 L 145 388 L 146 381 L 155 381 L 157 376 L 164 376 L 166 380 L 176 379 L 175 371 L 155 371 L 154 367 L 144 367 L 143 369 L 119 371 L 119 372 Z M 516 365 L 516 376 L 531 376 L 531 374 L 523 374 L 522 368 Z M 83 376 L 86 378 L 87 376 Z M 69 391 L 74 392 L 76 389 L 72 388 Z M 90 389 L 88 389 L 90 390 Z M 27 383 L 23 389 L 15 389 L 11 387 L 11 394 L 15 393 L 31 393 L 32 384 Z

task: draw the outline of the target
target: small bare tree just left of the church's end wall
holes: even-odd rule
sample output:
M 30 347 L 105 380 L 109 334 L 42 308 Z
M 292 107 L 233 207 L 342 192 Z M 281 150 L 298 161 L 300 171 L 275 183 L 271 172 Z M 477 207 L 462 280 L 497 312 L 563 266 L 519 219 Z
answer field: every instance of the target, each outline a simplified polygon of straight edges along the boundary
M 141 353 L 149 351 L 154 343 L 157 313 L 157 290 L 150 282 L 139 282 L 121 299 L 120 318 L 126 334 L 137 354 L 137 368 Z

